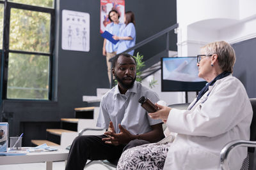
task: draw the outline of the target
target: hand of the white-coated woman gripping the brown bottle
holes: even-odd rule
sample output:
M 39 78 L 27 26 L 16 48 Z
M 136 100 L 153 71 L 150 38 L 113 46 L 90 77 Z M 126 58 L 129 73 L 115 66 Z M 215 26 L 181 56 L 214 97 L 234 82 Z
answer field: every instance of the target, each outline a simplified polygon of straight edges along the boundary
M 169 113 L 172 110 L 172 108 L 169 108 L 167 106 L 162 106 L 157 103 L 156 103 L 156 106 L 157 106 L 157 108 L 159 108 L 159 110 L 157 110 L 154 113 L 148 113 L 148 115 L 150 116 L 150 118 L 161 119 L 164 123 L 166 123 L 167 118 L 168 118 Z

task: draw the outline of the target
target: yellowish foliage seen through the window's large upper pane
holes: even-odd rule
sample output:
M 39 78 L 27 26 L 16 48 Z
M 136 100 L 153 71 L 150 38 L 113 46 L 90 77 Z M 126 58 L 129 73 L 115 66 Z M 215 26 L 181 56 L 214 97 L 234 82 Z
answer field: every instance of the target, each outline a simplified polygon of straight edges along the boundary
M 10 50 L 49 53 L 51 15 L 12 8 Z

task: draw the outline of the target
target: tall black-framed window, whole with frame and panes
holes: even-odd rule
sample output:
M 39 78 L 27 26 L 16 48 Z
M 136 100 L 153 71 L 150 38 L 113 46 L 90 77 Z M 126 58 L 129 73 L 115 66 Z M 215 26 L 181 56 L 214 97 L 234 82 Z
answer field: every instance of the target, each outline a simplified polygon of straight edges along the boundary
M 51 100 L 53 0 L 0 1 L 0 15 L 3 99 Z

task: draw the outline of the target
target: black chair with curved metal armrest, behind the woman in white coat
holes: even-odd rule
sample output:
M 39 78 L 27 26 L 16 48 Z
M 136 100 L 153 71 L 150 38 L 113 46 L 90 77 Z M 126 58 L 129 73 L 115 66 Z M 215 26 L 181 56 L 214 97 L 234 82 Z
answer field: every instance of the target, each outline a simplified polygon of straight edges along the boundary
M 223 147 L 221 150 L 221 169 L 223 170 L 229 170 L 228 167 L 228 158 L 230 157 L 230 151 L 238 146 L 246 146 L 248 147 L 248 155 L 246 159 L 244 159 L 243 166 L 241 167 L 241 170 L 253 170 L 254 166 L 254 151 L 256 147 L 256 98 L 250 99 L 250 102 L 252 104 L 252 110 L 253 110 L 253 118 L 252 118 L 252 124 L 250 126 L 250 141 L 244 141 L 244 140 L 235 140 L 230 141 Z

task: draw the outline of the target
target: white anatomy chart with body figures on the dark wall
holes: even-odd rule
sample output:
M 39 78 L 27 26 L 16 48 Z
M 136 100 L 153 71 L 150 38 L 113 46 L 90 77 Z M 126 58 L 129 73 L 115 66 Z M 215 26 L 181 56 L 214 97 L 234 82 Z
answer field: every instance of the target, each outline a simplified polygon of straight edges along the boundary
M 62 10 L 63 50 L 90 51 L 90 14 Z

